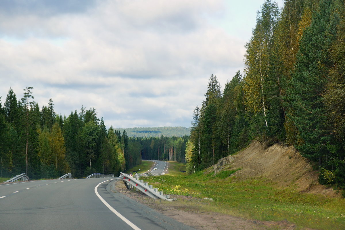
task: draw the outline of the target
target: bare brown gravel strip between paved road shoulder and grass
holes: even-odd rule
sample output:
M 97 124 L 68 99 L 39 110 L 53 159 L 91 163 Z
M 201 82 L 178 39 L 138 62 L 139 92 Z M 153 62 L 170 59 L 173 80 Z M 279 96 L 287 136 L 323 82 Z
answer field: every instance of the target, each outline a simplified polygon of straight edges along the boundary
M 289 221 L 259 221 L 247 220 L 225 214 L 203 212 L 194 207 L 199 199 L 185 196 L 171 195 L 177 201 L 169 202 L 154 200 L 139 192 L 127 190 L 122 180 L 115 183 L 114 192 L 122 194 L 157 210 L 166 216 L 187 224 L 198 230 L 229 229 L 229 230 L 294 230 L 295 224 Z M 305 230 L 312 230 L 306 229 Z

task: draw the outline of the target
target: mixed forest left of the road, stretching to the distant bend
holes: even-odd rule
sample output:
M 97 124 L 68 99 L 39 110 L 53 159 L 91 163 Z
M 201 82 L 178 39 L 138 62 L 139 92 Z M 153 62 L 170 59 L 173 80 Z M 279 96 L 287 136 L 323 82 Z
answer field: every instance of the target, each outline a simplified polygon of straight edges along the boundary
M 32 91 L 27 87 L 17 100 L 10 88 L 3 106 L 0 95 L 0 177 L 23 172 L 31 179 L 69 172 L 75 178 L 119 175 L 141 159 L 185 161 L 187 135 L 130 138 L 126 130 L 106 129 L 95 108 L 81 106 L 79 113 L 62 116 L 54 111 L 51 98 L 40 108 Z

